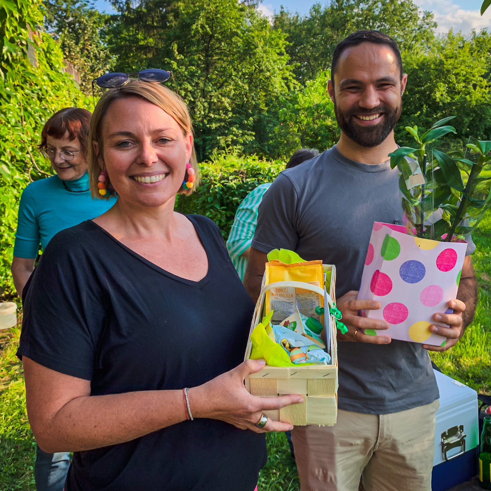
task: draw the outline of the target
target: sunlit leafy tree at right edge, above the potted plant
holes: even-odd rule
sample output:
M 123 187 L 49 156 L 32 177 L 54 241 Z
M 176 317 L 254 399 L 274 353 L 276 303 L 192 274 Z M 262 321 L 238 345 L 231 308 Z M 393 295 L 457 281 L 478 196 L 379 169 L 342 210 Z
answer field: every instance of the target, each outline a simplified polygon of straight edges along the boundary
M 397 141 L 408 142 L 406 126 L 428 128 L 451 115 L 457 116 L 452 125 L 459 138 L 489 139 L 490 53 L 491 35 L 486 30 L 470 35 L 450 31 L 437 37 L 426 52 L 403 53 L 408 85 Z

